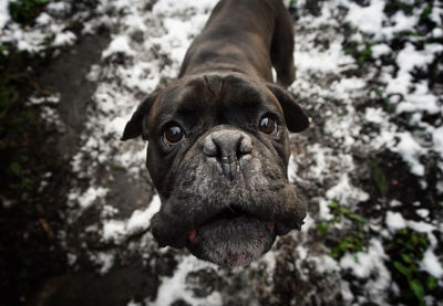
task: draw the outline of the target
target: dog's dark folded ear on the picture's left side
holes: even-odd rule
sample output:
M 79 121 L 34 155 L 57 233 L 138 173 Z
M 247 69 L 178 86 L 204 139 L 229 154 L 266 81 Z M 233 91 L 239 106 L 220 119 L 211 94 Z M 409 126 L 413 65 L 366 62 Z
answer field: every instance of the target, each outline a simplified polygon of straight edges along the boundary
M 145 117 L 150 114 L 156 98 L 157 94 L 150 95 L 138 105 L 131 119 L 126 123 L 121 140 L 132 139 L 140 135 L 142 135 L 144 140 L 147 140 L 147 123 Z

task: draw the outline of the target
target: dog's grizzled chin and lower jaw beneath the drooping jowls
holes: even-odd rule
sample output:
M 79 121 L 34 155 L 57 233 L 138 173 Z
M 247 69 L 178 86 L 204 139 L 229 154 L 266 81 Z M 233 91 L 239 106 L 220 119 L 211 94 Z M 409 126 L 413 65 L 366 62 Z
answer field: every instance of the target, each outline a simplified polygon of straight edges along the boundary
M 260 257 L 275 239 L 274 221 L 222 212 L 189 232 L 186 247 L 200 260 L 235 267 Z

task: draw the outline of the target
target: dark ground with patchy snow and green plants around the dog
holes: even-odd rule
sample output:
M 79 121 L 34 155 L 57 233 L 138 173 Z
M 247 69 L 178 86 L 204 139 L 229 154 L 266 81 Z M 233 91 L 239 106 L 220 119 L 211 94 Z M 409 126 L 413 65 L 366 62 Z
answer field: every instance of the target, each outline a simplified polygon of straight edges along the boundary
M 1 2 L 0 305 L 443 305 L 442 4 L 286 1 L 309 214 L 230 271 L 158 247 L 146 144 L 119 140 L 216 3 L 186 2 Z

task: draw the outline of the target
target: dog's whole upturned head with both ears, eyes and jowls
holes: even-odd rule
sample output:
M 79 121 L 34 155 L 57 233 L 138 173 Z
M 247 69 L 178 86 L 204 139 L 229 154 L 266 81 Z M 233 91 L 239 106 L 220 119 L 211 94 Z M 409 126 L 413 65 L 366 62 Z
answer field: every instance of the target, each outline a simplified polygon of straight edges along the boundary
M 288 130 L 308 118 L 282 88 L 239 74 L 187 76 L 143 102 L 123 140 L 148 139 L 162 198 L 159 245 L 220 265 L 247 264 L 299 229 L 306 203 L 288 183 Z

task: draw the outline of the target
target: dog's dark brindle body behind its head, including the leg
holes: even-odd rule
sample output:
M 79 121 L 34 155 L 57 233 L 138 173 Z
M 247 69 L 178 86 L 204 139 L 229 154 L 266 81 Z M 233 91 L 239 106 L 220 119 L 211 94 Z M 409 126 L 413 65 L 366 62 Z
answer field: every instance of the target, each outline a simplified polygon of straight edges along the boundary
M 289 86 L 295 78 L 293 29 L 281 0 L 222 0 L 189 46 L 178 77 L 239 72 Z

